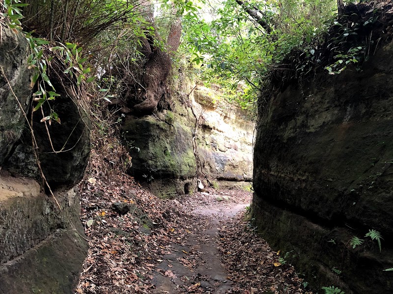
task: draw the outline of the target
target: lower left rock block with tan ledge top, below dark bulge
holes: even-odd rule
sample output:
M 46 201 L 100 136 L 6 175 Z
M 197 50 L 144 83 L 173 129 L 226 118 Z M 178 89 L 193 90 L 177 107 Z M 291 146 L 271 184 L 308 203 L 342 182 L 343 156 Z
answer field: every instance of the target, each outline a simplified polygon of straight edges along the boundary
M 0 173 L 1 294 L 74 293 L 88 248 L 79 197 L 55 196 L 61 211 L 36 181 Z

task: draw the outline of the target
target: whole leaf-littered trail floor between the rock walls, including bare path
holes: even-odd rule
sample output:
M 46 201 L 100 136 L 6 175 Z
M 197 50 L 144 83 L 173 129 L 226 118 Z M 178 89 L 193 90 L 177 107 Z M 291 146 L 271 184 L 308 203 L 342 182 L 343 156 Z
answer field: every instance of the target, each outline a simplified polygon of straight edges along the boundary
M 86 178 L 90 244 L 76 293 L 310 293 L 246 221 L 252 193 L 159 199 L 125 174 Z

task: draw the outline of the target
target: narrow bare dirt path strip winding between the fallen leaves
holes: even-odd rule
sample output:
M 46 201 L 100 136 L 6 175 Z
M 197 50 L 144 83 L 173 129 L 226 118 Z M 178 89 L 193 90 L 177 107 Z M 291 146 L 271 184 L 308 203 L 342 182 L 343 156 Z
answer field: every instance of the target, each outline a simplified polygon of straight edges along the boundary
M 227 278 L 228 273 L 221 265 L 216 239 L 220 224 L 249 205 L 251 195 L 247 196 L 240 199 L 240 203 L 236 201 L 238 199 L 233 201 L 229 196 L 224 199 L 217 192 L 216 195 L 205 196 L 206 200 L 201 201 L 201 204 L 209 205 L 198 207 L 191 212 L 200 221 L 197 225 L 200 233 L 189 234 L 185 240 L 170 245 L 167 254 L 163 256 L 163 262 L 153 274 L 152 284 L 156 287 L 153 293 L 174 294 L 194 290 L 200 293 L 224 294 L 232 289 L 233 282 Z

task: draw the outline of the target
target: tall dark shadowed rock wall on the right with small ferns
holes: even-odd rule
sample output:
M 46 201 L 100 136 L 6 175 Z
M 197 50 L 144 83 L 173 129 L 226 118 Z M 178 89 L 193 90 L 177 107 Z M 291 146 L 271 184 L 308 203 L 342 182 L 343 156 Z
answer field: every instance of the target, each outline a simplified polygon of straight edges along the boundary
M 391 42 L 360 73 L 293 81 L 260 108 L 253 218 L 319 291 L 393 293 L 392 54 Z

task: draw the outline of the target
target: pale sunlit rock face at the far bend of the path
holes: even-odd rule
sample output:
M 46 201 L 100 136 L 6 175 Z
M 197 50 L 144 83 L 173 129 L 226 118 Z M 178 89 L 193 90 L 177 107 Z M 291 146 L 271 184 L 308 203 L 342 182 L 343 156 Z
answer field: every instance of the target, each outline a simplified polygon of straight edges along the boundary
M 255 124 L 240 107 L 216 101 L 217 94 L 198 87 L 192 101 L 200 116 L 197 143 L 204 170 L 220 181 L 251 181 Z

